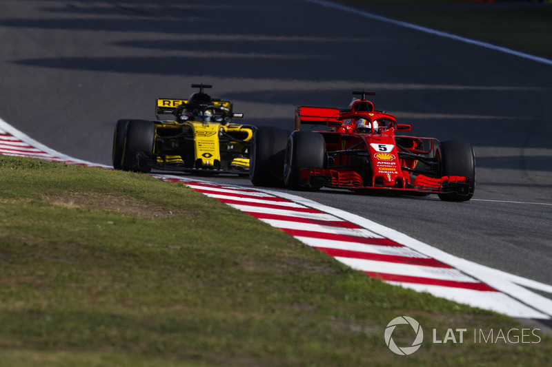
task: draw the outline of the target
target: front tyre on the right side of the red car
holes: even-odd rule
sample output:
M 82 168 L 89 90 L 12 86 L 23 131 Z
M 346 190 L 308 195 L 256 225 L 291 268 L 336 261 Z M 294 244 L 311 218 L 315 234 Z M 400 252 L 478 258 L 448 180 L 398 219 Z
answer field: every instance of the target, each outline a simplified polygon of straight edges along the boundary
M 469 143 L 449 140 L 440 143 L 436 155 L 440 159 L 440 176 L 466 176 L 469 187 L 466 192 L 438 193 L 444 201 L 468 201 L 475 191 L 475 154 Z

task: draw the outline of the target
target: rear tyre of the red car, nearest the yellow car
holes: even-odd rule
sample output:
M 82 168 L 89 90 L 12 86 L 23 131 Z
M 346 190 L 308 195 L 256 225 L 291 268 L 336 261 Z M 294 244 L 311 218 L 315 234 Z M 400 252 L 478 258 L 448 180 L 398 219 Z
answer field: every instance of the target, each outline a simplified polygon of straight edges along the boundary
M 275 127 L 258 127 L 251 140 L 249 179 L 255 186 L 280 186 L 290 132 Z

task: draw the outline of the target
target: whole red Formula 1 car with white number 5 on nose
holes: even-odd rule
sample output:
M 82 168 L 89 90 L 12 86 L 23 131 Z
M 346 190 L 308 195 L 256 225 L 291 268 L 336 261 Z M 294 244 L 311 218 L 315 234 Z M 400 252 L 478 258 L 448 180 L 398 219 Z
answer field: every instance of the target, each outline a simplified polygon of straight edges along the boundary
M 470 200 L 475 190 L 475 156 L 469 143 L 396 135 L 411 125 L 376 111 L 367 95 L 353 91 L 347 109 L 299 106 L 295 132 L 259 128 L 251 145 L 253 185 L 284 182 L 288 189 L 321 187 L 436 193 L 441 200 Z M 324 124 L 324 131 L 302 129 Z

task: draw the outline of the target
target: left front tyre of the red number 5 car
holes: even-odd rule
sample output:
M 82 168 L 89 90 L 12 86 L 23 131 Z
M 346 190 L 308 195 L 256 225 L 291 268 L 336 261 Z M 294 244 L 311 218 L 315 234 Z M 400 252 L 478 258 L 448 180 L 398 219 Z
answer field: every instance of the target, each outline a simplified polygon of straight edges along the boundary
M 284 184 L 288 189 L 317 191 L 319 186 L 306 185 L 301 169 L 322 169 L 326 156 L 324 136 L 315 132 L 293 132 L 284 158 Z

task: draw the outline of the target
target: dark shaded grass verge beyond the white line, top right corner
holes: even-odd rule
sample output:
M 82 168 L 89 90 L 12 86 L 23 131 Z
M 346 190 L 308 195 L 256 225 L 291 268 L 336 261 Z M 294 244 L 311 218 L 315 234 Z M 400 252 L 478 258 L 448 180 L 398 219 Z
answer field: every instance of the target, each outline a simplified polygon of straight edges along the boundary
M 552 59 L 552 5 L 528 1 L 342 0 L 384 17 Z

